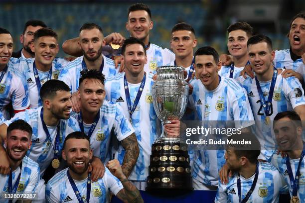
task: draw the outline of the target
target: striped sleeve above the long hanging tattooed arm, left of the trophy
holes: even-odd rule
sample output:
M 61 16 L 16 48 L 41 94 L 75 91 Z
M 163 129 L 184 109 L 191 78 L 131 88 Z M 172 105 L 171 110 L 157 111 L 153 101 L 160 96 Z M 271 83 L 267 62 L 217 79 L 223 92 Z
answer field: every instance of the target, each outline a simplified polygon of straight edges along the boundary
M 123 113 L 123 109 L 119 104 L 116 105 L 116 119 L 114 122 L 114 132 L 119 141 L 122 141 L 129 135 L 135 132 L 132 124 L 128 121 Z

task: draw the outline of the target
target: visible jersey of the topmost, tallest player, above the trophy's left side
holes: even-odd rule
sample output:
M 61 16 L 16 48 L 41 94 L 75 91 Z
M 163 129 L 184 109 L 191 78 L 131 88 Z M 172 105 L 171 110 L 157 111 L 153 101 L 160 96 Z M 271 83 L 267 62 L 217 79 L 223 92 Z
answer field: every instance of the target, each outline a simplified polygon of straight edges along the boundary
M 163 49 L 155 44 L 150 44 L 147 54 L 147 64 L 144 66 L 146 73 L 155 73 L 155 69 L 159 66 L 165 66 L 175 60 L 175 55 L 169 49 Z

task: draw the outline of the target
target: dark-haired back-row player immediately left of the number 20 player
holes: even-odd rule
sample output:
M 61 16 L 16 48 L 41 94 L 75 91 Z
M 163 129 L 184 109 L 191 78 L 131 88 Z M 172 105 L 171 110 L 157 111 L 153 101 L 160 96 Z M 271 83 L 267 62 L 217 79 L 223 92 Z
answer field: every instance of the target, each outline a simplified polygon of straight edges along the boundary
M 253 28 L 246 22 L 236 22 L 230 25 L 227 31 L 227 46 L 233 63 L 230 66 L 222 66 L 219 75 L 236 79 L 249 63 L 247 41 L 253 35 Z

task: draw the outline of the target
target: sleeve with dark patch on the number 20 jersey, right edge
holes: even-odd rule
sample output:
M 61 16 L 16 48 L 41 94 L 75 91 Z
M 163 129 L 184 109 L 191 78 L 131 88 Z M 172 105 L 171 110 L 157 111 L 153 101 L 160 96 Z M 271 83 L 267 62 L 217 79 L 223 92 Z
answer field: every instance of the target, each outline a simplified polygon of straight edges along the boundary
M 289 77 L 283 79 L 282 90 L 293 108 L 305 104 L 304 90 L 298 79 Z

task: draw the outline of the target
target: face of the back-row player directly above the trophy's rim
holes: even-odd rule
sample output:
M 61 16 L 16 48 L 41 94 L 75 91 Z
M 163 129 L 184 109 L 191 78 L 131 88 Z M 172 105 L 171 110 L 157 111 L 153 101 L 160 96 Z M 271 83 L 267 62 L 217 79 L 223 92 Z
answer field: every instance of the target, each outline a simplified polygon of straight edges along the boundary
M 192 56 L 196 45 L 197 39 L 191 31 L 177 30 L 171 33 L 170 48 L 176 57 Z

